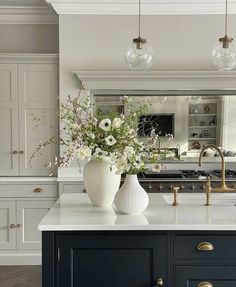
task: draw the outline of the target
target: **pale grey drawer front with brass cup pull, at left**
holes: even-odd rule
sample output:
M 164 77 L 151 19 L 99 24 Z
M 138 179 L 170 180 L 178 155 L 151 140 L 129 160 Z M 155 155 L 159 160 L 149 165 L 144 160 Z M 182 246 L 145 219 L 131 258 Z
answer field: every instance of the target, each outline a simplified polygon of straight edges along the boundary
M 1 197 L 57 197 L 57 184 L 1 184 Z

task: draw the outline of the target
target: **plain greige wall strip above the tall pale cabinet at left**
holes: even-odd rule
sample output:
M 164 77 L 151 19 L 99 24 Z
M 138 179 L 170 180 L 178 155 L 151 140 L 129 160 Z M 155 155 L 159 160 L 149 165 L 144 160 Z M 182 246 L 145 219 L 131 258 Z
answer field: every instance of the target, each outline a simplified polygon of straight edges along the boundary
M 58 25 L 0 25 L 0 53 L 58 53 Z

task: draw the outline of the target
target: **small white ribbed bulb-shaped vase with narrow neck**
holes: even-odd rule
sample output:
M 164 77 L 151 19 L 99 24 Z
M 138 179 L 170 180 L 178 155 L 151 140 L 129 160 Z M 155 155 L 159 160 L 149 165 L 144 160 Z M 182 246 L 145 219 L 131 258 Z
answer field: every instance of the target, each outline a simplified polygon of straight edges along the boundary
M 126 175 L 125 182 L 115 195 L 115 206 L 126 214 L 143 212 L 149 203 L 147 192 L 139 184 L 137 175 Z

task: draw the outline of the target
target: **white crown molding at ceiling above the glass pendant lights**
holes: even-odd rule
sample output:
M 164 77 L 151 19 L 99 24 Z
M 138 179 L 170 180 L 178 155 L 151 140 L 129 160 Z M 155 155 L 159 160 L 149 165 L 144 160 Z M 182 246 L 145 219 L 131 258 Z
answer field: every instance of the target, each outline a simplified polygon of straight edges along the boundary
M 58 14 L 136 15 L 137 0 L 46 0 Z M 222 0 L 145 0 L 142 15 L 223 14 Z M 236 14 L 236 0 L 231 0 L 229 13 Z

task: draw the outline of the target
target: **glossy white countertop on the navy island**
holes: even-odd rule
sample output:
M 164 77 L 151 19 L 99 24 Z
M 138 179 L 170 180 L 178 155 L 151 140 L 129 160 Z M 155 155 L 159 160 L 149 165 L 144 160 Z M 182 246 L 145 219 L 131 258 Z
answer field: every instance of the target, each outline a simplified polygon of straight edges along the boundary
M 210 207 L 205 195 L 180 194 L 180 206 L 171 205 L 172 194 L 149 194 L 148 208 L 139 215 L 119 213 L 115 207 L 94 207 L 87 194 L 63 194 L 39 224 L 42 231 L 92 230 L 235 230 L 236 194 L 223 195 Z M 193 198 L 191 198 L 194 196 Z M 214 196 L 214 195 L 213 195 Z M 226 196 L 226 197 L 225 197 Z M 191 199 L 192 204 L 186 203 Z M 224 200 L 225 199 L 225 200 Z M 169 203 L 167 203 L 169 200 Z

